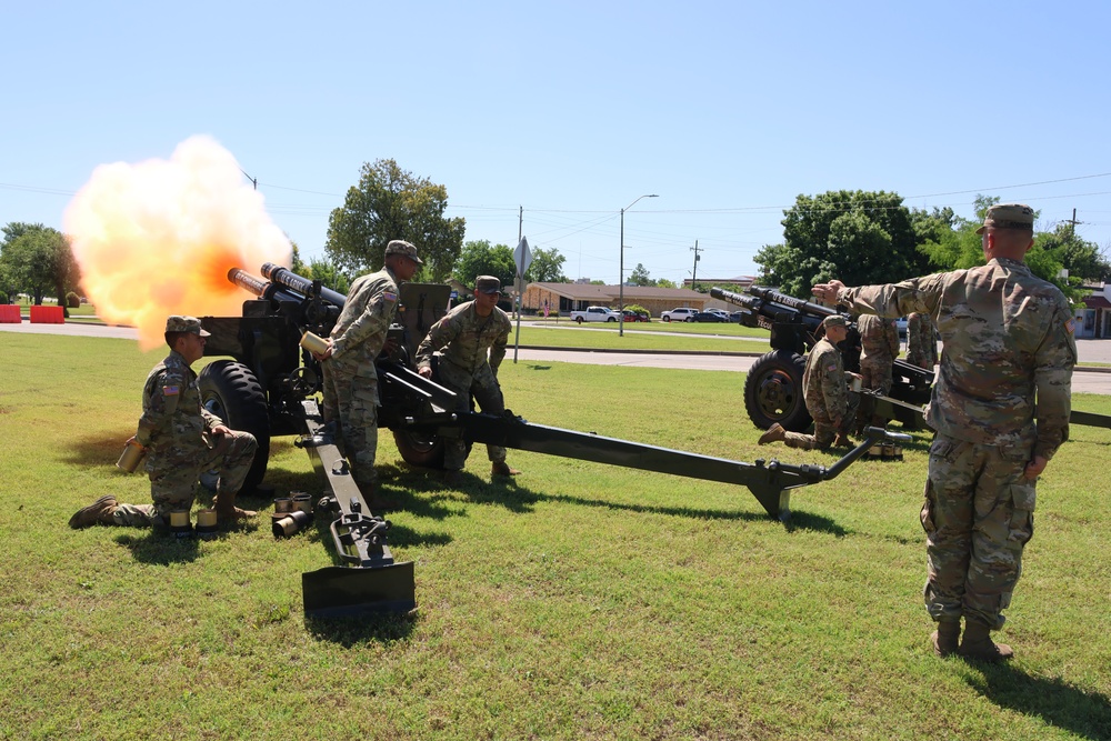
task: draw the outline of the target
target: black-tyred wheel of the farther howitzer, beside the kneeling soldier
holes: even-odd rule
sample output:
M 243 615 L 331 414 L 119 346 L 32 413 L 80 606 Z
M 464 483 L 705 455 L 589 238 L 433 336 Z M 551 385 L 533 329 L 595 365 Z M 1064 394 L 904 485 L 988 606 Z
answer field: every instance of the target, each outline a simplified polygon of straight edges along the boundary
M 802 388 L 805 368 L 802 357 L 788 350 L 772 350 L 752 364 L 744 380 L 744 409 L 753 424 L 767 430 L 779 422 L 793 432 L 810 427 Z

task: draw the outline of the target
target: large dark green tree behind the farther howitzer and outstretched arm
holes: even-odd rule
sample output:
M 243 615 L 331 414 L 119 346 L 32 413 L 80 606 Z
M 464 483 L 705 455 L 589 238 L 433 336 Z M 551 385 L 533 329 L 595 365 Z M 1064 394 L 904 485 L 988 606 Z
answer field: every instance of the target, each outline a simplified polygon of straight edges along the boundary
M 919 274 L 924 263 L 910 211 L 897 193 L 829 191 L 799 196 L 783 212 L 783 244 L 764 246 L 753 260 L 761 282 L 809 297 L 814 283 L 887 283 Z

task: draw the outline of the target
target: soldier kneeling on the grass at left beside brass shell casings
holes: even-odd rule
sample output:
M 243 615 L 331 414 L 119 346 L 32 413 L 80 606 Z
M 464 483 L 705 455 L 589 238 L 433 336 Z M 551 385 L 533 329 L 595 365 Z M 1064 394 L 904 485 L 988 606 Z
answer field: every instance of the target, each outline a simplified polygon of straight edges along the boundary
M 101 497 L 70 518 L 71 528 L 92 524 L 167 527 L 170 512 L 188 511 L 197 482 L 204 471 L 217 470 L 216 512 L 221 524 L 253 518 L 258 513 L 236 507 L 258 442 L 250 432 L 229 429 L 201 405 L 197 373 L 192 366 L 204 354 L 209 333 L 194 317 L 166 320 L 170 354 L 147 375 L 142 391 L 139 430 L 128 442 L 143 445 L 153 504 L 121 504 Z

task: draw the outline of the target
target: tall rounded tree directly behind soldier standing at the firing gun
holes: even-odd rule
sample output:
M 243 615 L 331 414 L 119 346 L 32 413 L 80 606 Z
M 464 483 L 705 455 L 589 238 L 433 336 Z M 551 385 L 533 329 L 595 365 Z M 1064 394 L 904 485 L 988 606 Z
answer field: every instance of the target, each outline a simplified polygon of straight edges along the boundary
M 367 162 L 359 184 L 329 218 L 324 250 L 337 269 L 358 273 L 378 270 L 390 240 L 404 239 L 420 251 L 423 278 L 443 281 L 459 258 L 466 230 L 463 219 L 444 218 L 447 207 L 443 186 L 417 178 L 393 160 Z

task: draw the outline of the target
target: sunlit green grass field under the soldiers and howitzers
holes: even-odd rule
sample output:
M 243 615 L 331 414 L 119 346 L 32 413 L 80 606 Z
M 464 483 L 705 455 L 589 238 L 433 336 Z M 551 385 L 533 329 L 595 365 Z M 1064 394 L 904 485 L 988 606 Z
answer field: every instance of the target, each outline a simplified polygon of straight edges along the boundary
M 540 330 L 542 331 L 542 330 Z M 1074 427 L 1039 487 L 1002 639 L 1008 665 L 940 660 L 921 605 L 928 439 L 797 490 L 793 521 L 745 489 L 484 451 L 447 490 L 381 435 L 391 545 L 414 614 L 309 621 L 317 528 L 213 541 L 70 530 L 113 493 L 143 379 L 134 342 L 0 332 L 0 739 L 1111 738 L 1111 431 Z M 507 363 L 532 422 L 752 461 L 741 374 Z M 1111 398 L 1078 395 L 1111 413 Z M 290 439 L 269 482 L 320 493 Z

